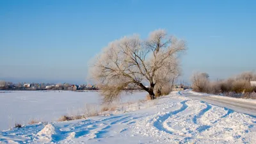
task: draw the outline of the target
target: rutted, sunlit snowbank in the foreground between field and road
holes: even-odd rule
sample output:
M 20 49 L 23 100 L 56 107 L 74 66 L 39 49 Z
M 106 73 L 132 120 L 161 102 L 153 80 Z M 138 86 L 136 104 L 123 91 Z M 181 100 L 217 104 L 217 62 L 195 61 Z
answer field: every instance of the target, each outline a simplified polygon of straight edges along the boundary
M 118 113 L 0 132 L 0 143 L 256 143 L 255 116 L 172 92 Z

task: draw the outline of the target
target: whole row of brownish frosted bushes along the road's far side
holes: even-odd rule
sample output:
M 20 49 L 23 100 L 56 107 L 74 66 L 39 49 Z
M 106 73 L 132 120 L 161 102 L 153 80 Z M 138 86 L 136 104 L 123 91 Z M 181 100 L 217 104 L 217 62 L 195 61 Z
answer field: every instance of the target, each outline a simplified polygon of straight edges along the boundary
M 229 97 L 256 99 L 256 87 L 250 81 L 256 81 L 256 74 L 244 72 L 227 80 L 210 81 L 206 73 L 196 73 L 191 77 L 192 88 L 195 92 L 224 94 Z

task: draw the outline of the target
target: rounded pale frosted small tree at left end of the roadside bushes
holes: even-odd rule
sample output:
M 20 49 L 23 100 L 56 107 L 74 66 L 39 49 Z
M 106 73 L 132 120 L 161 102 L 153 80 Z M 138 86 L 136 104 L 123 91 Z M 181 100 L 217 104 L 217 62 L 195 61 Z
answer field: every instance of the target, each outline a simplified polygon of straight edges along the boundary
M 192 88 L 196 92 L 207 92 L 207 88 L 209 85 L 209 74 L 196 72 L 191 77 Z

